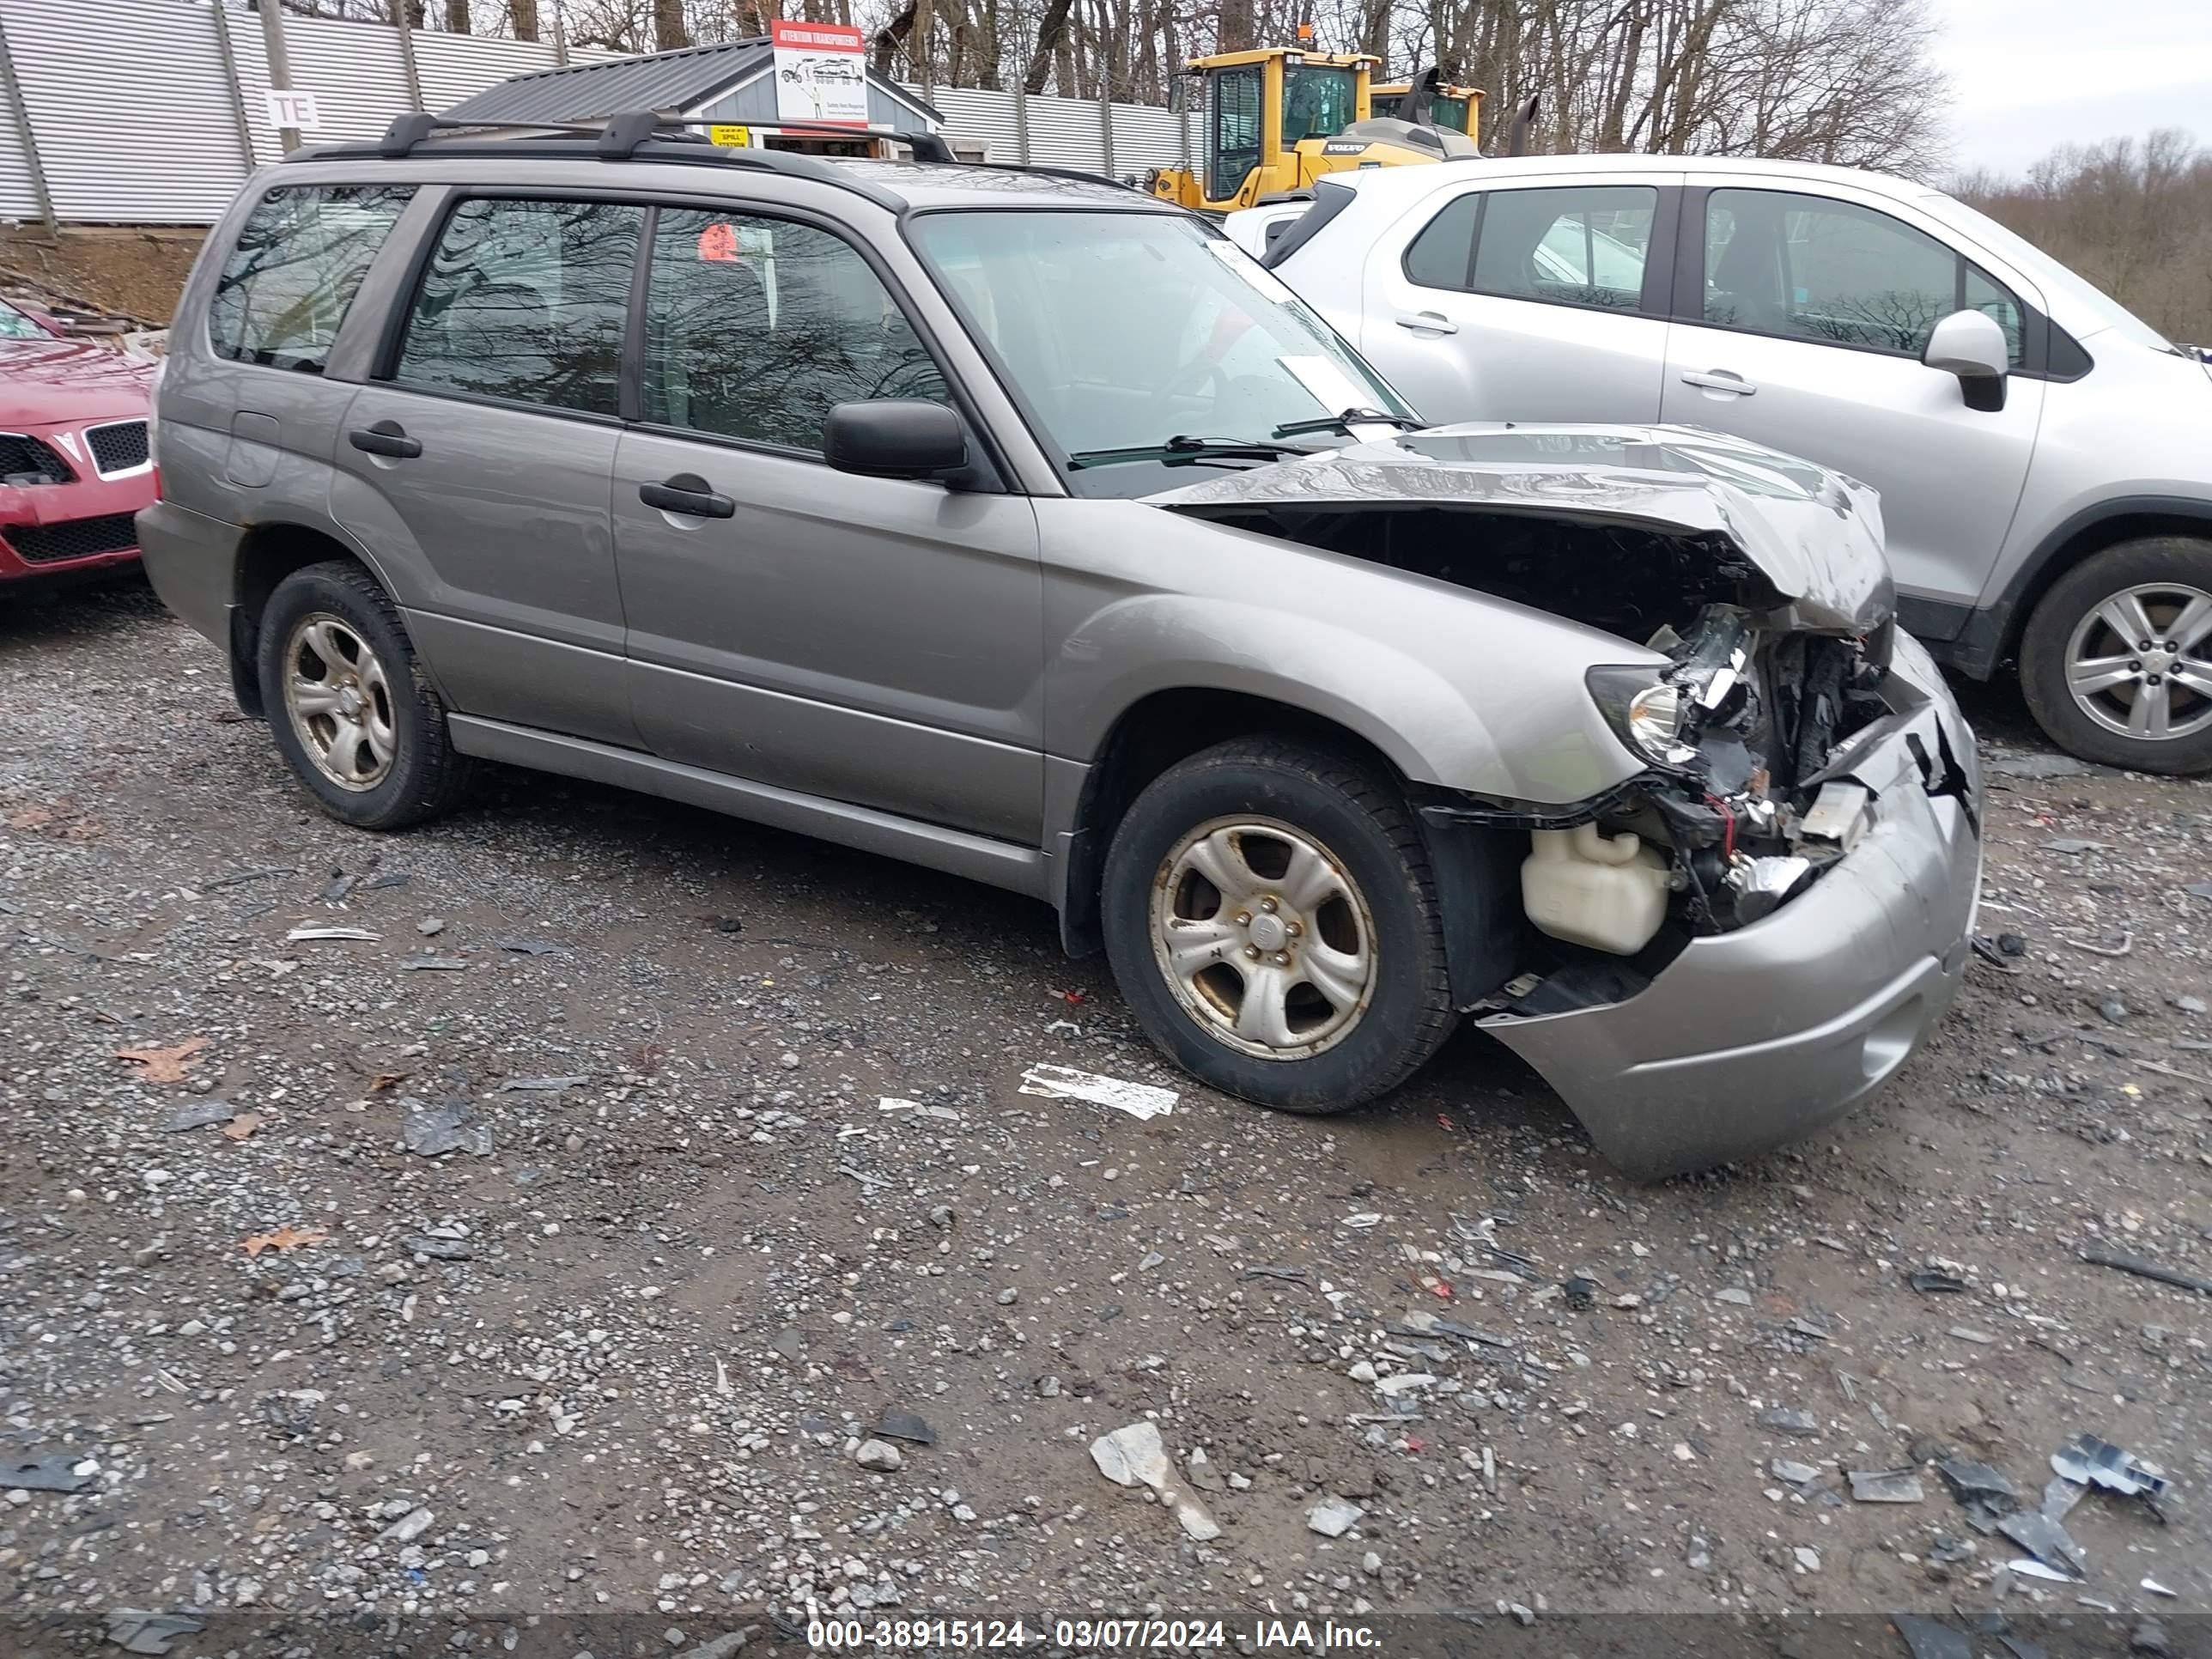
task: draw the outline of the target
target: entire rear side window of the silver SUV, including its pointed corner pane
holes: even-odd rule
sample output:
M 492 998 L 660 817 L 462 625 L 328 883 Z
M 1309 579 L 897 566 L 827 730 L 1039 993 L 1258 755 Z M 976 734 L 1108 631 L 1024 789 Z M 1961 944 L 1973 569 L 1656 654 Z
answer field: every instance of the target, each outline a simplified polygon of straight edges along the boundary
M 1413 239 L 1405 274 L 1422 288 L 1632 312 L 1657 210 L 1648 186 L 1469 192 Z

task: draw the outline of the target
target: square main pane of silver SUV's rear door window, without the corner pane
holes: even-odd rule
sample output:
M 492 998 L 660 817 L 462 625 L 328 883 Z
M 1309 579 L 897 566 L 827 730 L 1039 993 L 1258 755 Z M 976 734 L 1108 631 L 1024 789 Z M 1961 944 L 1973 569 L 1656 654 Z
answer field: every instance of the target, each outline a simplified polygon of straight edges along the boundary
M 1632 312 L 1644 301 L 1644 252 L 1657 210 L 1650 186 L 1491 190 L 1467 288 Z

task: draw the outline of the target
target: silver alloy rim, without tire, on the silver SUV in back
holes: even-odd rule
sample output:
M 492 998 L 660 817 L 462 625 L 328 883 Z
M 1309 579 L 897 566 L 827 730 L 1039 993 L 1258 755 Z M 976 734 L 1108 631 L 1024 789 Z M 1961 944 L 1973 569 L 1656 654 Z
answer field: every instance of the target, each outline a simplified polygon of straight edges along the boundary
M 2121 588 L 2066 639 L 2075 708 L 2119 737 L 2170 741 L 2212 726 L 2212 593 L 2177 582 Z

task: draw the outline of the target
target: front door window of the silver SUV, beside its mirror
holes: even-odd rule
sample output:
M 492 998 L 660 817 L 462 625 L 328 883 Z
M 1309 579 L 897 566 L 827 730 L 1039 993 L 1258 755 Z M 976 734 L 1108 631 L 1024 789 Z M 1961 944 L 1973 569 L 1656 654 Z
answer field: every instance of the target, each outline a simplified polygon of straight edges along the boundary
M 1827 197 L 1705 199 L 1708 323 L 1920 356 L 1936 323 L 1966 307 L 1997 319 L 2017 367 L 2020 301 L 1933 237 Z

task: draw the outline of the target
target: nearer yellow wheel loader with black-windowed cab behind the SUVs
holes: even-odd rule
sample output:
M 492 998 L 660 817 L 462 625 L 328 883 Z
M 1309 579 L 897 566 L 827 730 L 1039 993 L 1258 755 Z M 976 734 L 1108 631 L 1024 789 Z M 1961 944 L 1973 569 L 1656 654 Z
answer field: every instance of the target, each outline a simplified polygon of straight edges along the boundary
M 1203 97 L 1199 170 L 1157 168 L 1148 188 L 1199 212 L 1234 212 L 1312 190 L 1352 168 L 1394 168 L 1480 155 L 1467 133 L 1374 113 L 1367 53 L 1267 46 L 1192 58 L 1186 75 Z M 1188 93 L 1186 93 L 1188 95 Z

